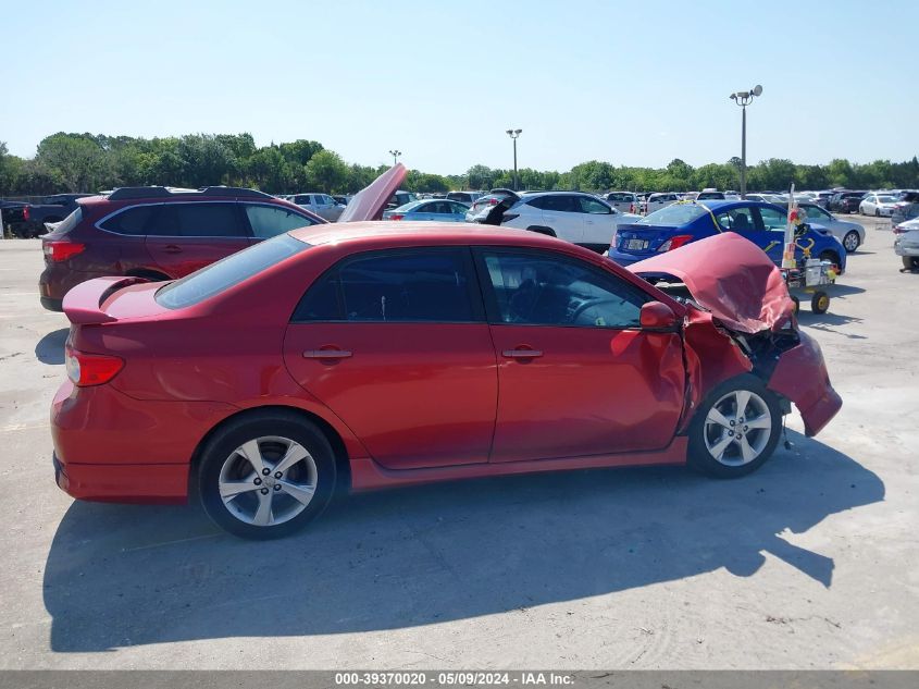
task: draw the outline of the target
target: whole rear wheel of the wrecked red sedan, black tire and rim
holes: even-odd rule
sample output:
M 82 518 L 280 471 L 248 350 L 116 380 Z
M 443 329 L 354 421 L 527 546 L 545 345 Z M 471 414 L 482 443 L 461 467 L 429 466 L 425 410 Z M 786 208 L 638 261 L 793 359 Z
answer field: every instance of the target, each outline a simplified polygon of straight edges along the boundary
M 319 428 L 272 410 L 229 421 L 200 454 L 198 492 L 208 516 L 245 539 L 289 536 L 335 494 L 335 453 Z

